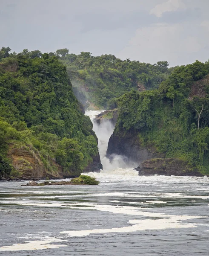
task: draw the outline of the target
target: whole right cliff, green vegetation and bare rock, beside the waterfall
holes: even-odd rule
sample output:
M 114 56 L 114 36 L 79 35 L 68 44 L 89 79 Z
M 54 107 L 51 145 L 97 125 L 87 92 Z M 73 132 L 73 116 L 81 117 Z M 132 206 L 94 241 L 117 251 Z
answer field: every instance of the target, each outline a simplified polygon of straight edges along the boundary
M 107 157 L 128 157 L 140 175 L 209 175 L 207 73 L 196 61 L 176 68 L 158 90 L 121 96 Z

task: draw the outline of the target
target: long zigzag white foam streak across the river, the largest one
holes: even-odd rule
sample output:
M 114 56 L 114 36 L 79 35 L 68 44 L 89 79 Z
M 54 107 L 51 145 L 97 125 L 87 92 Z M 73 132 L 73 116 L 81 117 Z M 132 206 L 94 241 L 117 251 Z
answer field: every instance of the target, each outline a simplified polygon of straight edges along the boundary
M 112 205 L 98 205 L 90 203 L 78 203 L 77 205 L 86 206 L 85 209 L 97 209 L 104 212 L 112 212 L 127 215 L 141 215 L 150 218 L 159 219 L 146 219 L 146 220 L 130 220 L 129 223 L 134 224 L 132 226 L 111 228 L 111 229 L 94 229 L 94 230 L 70 230 L 60 232 L 67 236 L 88 236 L 95 233 L 125 233 L 136 232 L 144 230 L 161 230 L 166 228 L 194 228 L 197 227 L 192 223 L 182 223 L 183 220 L 195 219 L 195 218 L 208 218 L 208 216 L 192 216 L 192 215 L 168 215 L 159 212 L 144 212 L 138 207 L 129 206 L 112 206 Z M 78 208 L 78 207 L 72 207 Z

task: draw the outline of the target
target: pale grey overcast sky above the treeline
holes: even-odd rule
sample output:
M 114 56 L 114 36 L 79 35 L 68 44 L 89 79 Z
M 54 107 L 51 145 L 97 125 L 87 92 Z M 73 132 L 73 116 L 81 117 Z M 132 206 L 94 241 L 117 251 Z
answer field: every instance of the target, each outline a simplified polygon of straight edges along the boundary
M 205 62 L 208 13 L 209 0 L 0 0 L 0 47 Z

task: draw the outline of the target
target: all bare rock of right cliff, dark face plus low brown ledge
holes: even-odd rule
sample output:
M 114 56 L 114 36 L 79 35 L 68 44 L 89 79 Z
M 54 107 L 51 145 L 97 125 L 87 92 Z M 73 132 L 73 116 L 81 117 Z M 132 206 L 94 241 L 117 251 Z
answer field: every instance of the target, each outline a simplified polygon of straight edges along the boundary
M 126 134 L 115 132 L 109 139 L 107 157 L 112 154 L 120 154 L 128 157 L 139 166 L 135 169 L 139 175 L 176 175 L 176 176 L 203 176 L 199 172 L 191 171 L 184 160 L 178 158 L 165 158 L 165 154 L 156 152 L 154 147 L 145 147 L 135 132 Z

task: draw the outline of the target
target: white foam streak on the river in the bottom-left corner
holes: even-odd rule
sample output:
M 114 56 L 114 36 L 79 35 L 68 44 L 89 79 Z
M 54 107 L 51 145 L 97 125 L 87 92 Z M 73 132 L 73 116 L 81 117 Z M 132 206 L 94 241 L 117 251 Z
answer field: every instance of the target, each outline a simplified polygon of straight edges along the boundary
M 26 241 L 25 244 L 13 244 L 9 246 L 0 247 L 0 251 L 20 251 L 20 250 L 44 250 L 51 248 L 59 248 L 66 247 L 65 244 L 51 244 L 52 242 L 62 242 L 66 240 L 57 239 L 57 238 L 49 238 L 45 240 L 34 240 L 34 241 Z

